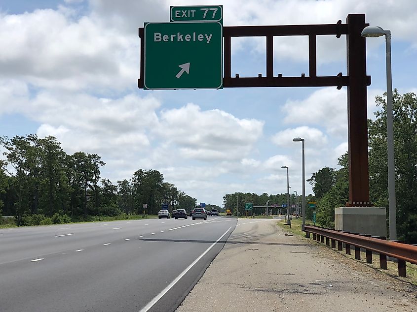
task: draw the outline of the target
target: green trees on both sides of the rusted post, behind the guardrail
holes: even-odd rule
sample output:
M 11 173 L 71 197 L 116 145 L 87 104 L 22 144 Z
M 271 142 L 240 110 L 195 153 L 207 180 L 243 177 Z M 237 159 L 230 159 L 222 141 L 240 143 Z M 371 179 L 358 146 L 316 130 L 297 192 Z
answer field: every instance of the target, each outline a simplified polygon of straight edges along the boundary
M 386 207 L 389 233 L 386 93 L 376 96 L 376 120 L 368 120 L 370 198 L 376 207 Z M 393 92 L 395 195 L 397 236 L 406 243 L 417 243 L 417 96 Z M 348 200 L 347 154 L 339 158 L 340 169 L 324 167 L 308 180 L 317 200 L 317 222 L 334 226 L 335 207 Z

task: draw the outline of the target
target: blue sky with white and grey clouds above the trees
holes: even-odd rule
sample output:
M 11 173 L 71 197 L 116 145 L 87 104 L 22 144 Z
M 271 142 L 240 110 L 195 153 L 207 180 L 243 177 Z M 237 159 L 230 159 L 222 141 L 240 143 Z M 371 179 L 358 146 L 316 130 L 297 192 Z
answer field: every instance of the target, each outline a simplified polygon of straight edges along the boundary
M 416 92 L 417 1 L 385 0 L 1 0 L 0 135 L 53 135 L 71 154 L 97 153 L 102 177 L 139 168 L 199 202 L 235 191 L 302 191 L 347 150 L 346 89 L 137 88 L 138 27 L 168 22 L 170 5 L 223 4 L 224 25 L 327 24 L 349 13 L 392 32 L 393 87 Z M 274 38 L 274 75 L 308 74 L 308 38 Z M 317 40 L 318 75 L 346 75 L 346 38 Z M 265 38 L 232 38 L 231 74 L 266 74 Z M 368 117 L 385 90 L 384 38 L 367 39 Z M 311 193 L 306 184 L 306 193 Z

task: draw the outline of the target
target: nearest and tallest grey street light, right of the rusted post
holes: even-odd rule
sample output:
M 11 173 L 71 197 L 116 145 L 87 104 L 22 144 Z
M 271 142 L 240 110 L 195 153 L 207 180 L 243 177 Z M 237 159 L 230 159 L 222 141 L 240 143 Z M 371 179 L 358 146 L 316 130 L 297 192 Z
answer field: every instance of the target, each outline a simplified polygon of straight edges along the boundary
M 394 117 L 392 108 L 392 74 L 391 74 L 391 31 L 379 26 L 367 26 L 361 33 L 362 37 L 380 37 L 385 35 L 386 57 L 386 132 L 388 150 L 388 209 L 389 239 L 397 239 L 397 217 L 395 207 L 395 162 L 394 162 Z

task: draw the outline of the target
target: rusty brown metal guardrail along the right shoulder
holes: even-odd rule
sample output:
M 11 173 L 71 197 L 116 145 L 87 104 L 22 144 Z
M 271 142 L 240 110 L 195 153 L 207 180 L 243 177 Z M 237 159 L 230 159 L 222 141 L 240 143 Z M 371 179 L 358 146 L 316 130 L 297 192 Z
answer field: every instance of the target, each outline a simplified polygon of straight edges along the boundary
M 326 229 L 318 226 L 305 225 L 306 237 L 313 235 L 313 240 L 324 243 L 332 248 L 343 250 L 345 244 L 346 254 L 350 254 L 350 247 L 355 249 L 355 259 L 361 259 L 361 248 L 366 251 L 366 262 L 372 263 L 372 252 L 379 253 L 379 265 L 386 270 L 386 257 L 396 258 L 398 261 L 398 275 L 406 277 L 406 262 L 417 264 L 417 246 L 399 241 L 387 241 L 383 236 L 371 236 L 347 231 Z

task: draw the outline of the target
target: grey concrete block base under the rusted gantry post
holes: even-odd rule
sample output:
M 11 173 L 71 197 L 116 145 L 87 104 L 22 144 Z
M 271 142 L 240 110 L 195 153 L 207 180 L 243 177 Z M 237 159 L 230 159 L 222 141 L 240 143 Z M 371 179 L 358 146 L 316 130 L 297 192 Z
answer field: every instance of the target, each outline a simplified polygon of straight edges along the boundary
M 386 236 L 384 207 L 335 208 L 335 229 L 372 236 Z

